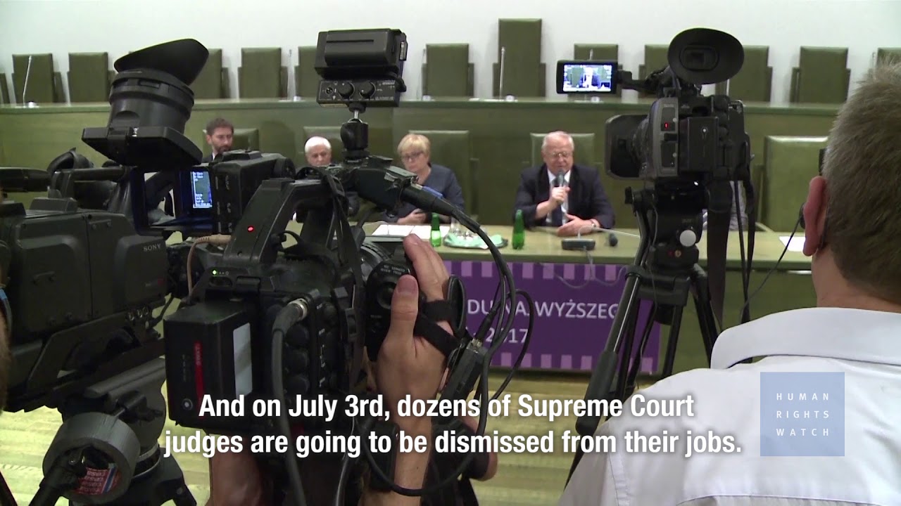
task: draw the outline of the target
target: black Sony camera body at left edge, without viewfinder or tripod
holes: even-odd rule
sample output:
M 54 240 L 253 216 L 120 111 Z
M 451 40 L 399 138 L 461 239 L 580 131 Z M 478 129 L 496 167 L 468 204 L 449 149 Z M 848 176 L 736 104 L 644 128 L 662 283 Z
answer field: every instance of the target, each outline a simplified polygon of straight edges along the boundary
M 163 239 L 135 233 L 119 213 L 70 199 L 37 198 L 28 211 L 0 203 L 13 357 L 5 408 L 56 407 L 159 356 L 148 322 L 168 294 L 166 254 Z

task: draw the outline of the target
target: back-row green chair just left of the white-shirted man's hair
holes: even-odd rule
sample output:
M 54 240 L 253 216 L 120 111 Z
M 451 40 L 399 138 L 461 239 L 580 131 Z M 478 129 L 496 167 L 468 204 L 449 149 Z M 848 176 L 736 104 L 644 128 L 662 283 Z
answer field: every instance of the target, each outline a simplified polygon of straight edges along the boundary
M 798 66 L 792 68 L 790 101 L 842 104 L 851 85 L 847 65 L 848 48 L 802 47 Z

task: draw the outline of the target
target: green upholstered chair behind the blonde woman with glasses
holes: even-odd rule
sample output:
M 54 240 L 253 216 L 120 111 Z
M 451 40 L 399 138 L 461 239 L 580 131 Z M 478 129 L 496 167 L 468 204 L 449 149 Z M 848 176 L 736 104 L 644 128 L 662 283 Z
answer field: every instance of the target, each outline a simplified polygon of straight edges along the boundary
M 432 145 L 432 163 L 449 167 L 457 176 L 463 190 L 467 214 L 478 213 L 478 194 L 475 175 L 478 160 L 471 158 L 472 145 L 469 131 L 414 130 L 429 139 Z M 490 196 L 490 195 L 489 195 Z

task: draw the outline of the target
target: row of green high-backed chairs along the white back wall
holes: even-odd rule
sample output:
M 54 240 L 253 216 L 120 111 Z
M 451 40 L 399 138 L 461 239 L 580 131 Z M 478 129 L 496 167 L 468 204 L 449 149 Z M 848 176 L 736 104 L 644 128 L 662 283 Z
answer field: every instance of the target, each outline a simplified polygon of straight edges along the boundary
M 541 61 L 542 20 L 500 20 L 497 63 L 493 66 L 494 94 L 523 97 L 545 96 L 547 68 Z M 501 52 L 505 77 L 501 80 Z M 619 59 L 617 44 L 576 44 L 575 59 Z M 880 48 L 877 59 L 899 58 L 901 49 Z M 31 68 L 29 69 L 29 59 Z M 296 95 L 317 95 L 319 76 L 314 69 L 315 47 L 297 48 Z M 848 96 L 851 70 L 846 48 L 802 47 L 798 66 L 792 68 L 789 100 L 792 103 L 841 104 Z M 68 55 L 68 101 L 105 102 L 114 72 L 109 70 L 107 53 Z M 644 63 L 638 77 L 667 65 L 667 46 L 646 45 Z M 622 69 L 622 66 L 620 66 Z M 772 73 L 768 46 L 746 46 L 742 70 L 729 81 L 716 85 L 716 92 L 747 102 L 769 102 Z M 26 74 L 28 86 L 24 86 Z M 282 65 L 280 48 L 244 48 L 238 68 L 238 96 L 241 98 L 286 98 L 288 69 Z M 469 61 L 469 44 L 428 44 L 422 66 L 423 95 L 471 97 L 475 68 Z M 197 99 L 220 99 L 232 95 L 228 68 L 223 67 L 223 51 L 210 50 L 206 66 L 191 86 Z M 502 89 L 503 87 L 503 89 Z M 14 55 L 14 99 L 10 100 L 6 78 L 0 74 L 0 102 L 64 103 L 62 76 L 54 70 L 53 55 Z M 26 97 L 23 99 L 23 91 Z M 622 90 L 617 92 L 618 95 Z

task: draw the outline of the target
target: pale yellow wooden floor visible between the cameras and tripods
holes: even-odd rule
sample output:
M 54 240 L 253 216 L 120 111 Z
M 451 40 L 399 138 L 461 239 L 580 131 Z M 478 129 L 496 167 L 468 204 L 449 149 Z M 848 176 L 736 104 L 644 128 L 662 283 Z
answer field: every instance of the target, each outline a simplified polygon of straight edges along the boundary
M 504 373 L 492 374 L 492 392 L 500 385 Z M 587 375 L 553 373 L 519 373 L 507 386 L 505 393 L 513 397 L 511 406 L 521 393 L 535 399 L 581 399 L 585 395 Z M 549 422 L 543 418 L 518 416 L 511 409 L 507 418 L 489 418 L 487 430 L 500 434 L 546 435 L 553 431 L 556 441 L 551 454 L 503 454 L 499 456 L 498 472 L 493 480 L 475 483 L 481 504 L 485 506 L 527 506 L 556 504 L 569 473 L 572 454 L 562 452 L 560 434 L 575 432 L 574 417 Z M 0 416 L 0 472 L 12 489 L 16 501 L 28 504 L 41 483 L 41 462 L 50 441 L 59 429 L 59 413 L 48 409 L 29 413 L 3 413 Z M 167 420 L 166 429 L 174 434 L 193 434 L 194 430 L 176 427 Z M 160 439 L 160 443 L 162 443 Z M 180 454 L 181 465 L 191 492 L 198 504 L 204 504 L 208 494 L 207 465 L 200 455 Z M 68 504 L 59 501 L 58 504 Z M 168 504 L 172 504 L 169 502 Z

